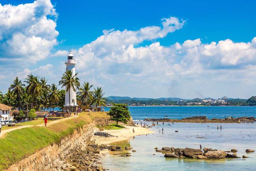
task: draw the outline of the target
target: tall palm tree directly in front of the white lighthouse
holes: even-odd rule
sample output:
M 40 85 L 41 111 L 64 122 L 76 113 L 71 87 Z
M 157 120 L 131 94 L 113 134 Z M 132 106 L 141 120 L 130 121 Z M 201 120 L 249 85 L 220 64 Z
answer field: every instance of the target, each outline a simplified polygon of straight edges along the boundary
M 61 88 L 66 86 L 66 92 L 69 92 L 69 111 L 71 111 L 69 90 L 73 89 L 73 91 L 76 91 L 76 88 L 79 88 L 80 86 L 79 78 L 76 77 L 78 73 L 76 73 L 74 76 L 72 76 L 72 74 L 72 70 L 67 70 L 61 77 L 61 80 L 59 81 L 59 85 L 62 85 Z

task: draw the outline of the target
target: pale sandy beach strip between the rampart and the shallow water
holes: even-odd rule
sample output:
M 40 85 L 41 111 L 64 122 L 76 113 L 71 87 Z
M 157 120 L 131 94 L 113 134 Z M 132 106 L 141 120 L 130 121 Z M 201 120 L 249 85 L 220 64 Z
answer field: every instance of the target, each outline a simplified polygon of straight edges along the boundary
M 133 133 L 133 129 L 135 133 Z M 95 127 L 95 131 L 99 131 L 98 128 Z M 100 136 L 93 136 L 92 140 L 95 140 L 96 144 L 109 144 L 117 141 L 123 141 L 128 139 L 129 137 L 133 137 L 136 135 L 143 135 L 143 134 L 150 134 L 154 133 L 153 131 L 149 131 L 143 127 L 131 127 L 125 126 L 124 129 L 118 130 L 104 130 L 102 132 L 109 133 L 110 135 L 117 136 L 117 137 L 100 137 Z

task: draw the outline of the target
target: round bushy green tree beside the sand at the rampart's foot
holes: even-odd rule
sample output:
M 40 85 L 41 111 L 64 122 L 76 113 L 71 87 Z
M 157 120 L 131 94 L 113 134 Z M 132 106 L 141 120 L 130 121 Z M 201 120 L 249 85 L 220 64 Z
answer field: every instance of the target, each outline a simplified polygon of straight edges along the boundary
M 110 115 L 110 120 L 115 121 L 116 125 L 118 122 L 127 123 L 131 116 L 129 112 L 129 108 L 127 108 L 128 105 L 126 104 L 116 104 L 112 103 L 113 107 L 110 107 L 110 110 L 107 115 Z

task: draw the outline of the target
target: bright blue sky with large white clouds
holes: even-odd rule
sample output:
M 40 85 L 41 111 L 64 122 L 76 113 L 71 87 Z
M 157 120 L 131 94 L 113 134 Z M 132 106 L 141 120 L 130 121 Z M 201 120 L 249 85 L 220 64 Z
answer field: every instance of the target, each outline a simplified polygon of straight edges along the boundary
M 57 84 L 72 49 L 81 83 L 106 96 L 247 99 L 256 84 L 255 5 L 2 0 L 0 89 L 29 73 Z

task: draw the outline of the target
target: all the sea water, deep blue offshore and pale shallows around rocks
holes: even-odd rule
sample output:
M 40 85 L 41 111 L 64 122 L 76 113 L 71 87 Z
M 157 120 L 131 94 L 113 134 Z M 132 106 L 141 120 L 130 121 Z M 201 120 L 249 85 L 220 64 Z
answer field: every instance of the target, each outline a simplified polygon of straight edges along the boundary
M 240 117 L 254 116 L 256 107 L 130 107 L 134 120 L 144 118 L 171 118 L 181 119 L 191 116 L 212 117 Z M 151 111 L 151 112 L 149 112 Z M 164 113 L 168 111 L 169 113 Z M 146 115 L 146 113 L 150 113 Z M 143 121 L 144 123 L 144 121 Z M 152 122 L 145 122 L 151 125 Z M 162 124 L 162 123 L 161 123 Z M 207 128 L 209 125 L 209 129 Z M 222 129 L 217 126 L 222 125 Z M 162 132 L 162 128 L 164 131 Z M 106 156 L 100 160 L 102 166 L 110 170 L 256 170 L 256 152 L 246 153 L 246 149 L 256 151 L 255 123 L 168 123 L 149 128 L 152 134 L 131 137 L 125 141 L 112 143 L 121 147 L 131 146 L 136 152 L 130 157 L 112 155 L 106 151 Z M 159 130 L 161 130 L 159 132 Z M 178 132 L 175 132 L 175 131 Z M 204 138 L 196 138 L 204 137 Z M 165 158 L 165 153 L 155 151 L 155 147 L 197 148 L 204 147 L 230 151 L 236 148 L 237 156 L 249 158 L 225 158 L 198 160 L 191 158 Z M 108 154 L 108 152 L 110 154 Z M 156 155 L 153 155 L 156 154 Z M 233 154 L 233 153 L 230 153 Z

